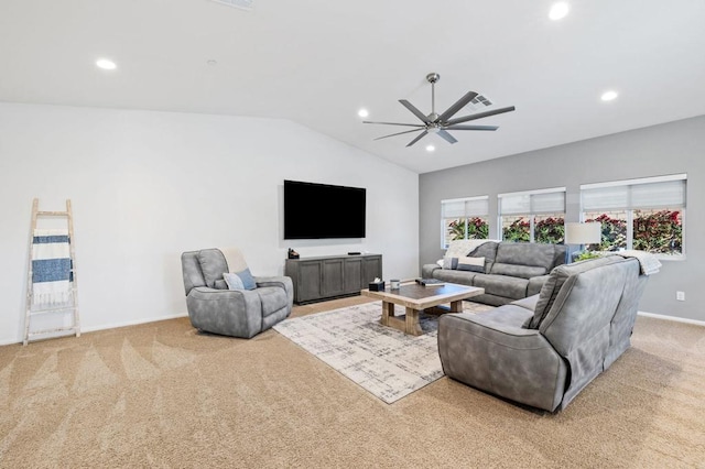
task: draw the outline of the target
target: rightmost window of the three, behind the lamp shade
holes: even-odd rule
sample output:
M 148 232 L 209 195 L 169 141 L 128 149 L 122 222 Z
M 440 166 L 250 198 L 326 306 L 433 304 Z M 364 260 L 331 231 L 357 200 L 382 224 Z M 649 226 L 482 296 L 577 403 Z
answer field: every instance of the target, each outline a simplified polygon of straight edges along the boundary
M 588 249 L 682 255 L 686 179 L 675 174 L 582 185 L 583 219 L 603 223 L 600 244 Z

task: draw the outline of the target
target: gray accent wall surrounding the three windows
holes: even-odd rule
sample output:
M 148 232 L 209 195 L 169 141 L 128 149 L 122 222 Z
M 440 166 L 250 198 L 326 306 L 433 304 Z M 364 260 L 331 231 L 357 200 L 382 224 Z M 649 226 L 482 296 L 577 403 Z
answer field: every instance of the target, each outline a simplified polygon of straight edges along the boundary
M 501 138 L 501 131 L 497 133 Z M 471 142 L 466 142 L 471 151 Z M 705 116 L 502 159 L 425 173 L 419 178 L 421 264 L 443 257 L 441 200 L 489 196 L 490 238 L 498 237 L 497 195 L 566 187 L 566 221 L 579 219 L 581 184 L 687 174 L 685 260 L 662 261 L 639 305 L 641 312 L 705 321 Z M 443 151 L 434 157 L 443 157 Z M 421 271 L 421 266 L 420 266 Z M 675 292 L 685 292 L 685 302 Z

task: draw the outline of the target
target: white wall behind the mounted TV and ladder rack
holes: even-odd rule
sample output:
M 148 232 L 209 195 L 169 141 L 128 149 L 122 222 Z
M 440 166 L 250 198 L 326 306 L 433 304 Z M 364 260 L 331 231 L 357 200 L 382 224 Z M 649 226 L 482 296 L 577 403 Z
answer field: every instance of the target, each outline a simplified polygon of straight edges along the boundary
M 282 239 L 283 179 L 367 188 L 367 238 Z M 0 103 L 0 343 L 22 340 L 32 199 L 74 208 L 83 330 L 186 313 L 183 251 L 238 247 L 256 275 L 383 254 L 419 272 L 419 177 L 286 120 Z M 33 323 L 34 324 L 34 323 Z

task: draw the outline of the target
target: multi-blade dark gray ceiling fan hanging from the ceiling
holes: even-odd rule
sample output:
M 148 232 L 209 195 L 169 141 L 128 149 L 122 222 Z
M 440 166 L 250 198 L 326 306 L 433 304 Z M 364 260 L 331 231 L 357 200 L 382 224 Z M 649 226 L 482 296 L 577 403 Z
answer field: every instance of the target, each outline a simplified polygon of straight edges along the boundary
M 468 91 L 458 99 L 453 106 L 445 110 L 445 112 L 437 114 L 435 111 L 435 84 L 441 79 L 441 75 L 436 73 L 431 73 L 426 75 L 426 80 L 431 84 L 431 113 L 425 116 L 414 105 L 409 102 L 405 99 L 400 99 L 401 102 L 406 109 L 409 109 L 414 116 L 416 116 L 423 123 L 400 123 L 400 122 L 371 122 L 371 121 L 362 121 L 364 123 L 380 123 L 384 126 L 403 126 L 403 127 L 414 127 L 413 130 L 406 130 L 404 132 L 391 133 L 389 135 L 379 137 L 375 140 L 387 139 L 389 137 L 402 135 L 404 133 L 419 132 L 421 133 L 414 138 L 411 142 L 406 144 L 406 146 L 411 146 L 416 143 L 419 140 L 423 139 L 429 133 L 437 133 L 441 138 L 443 138 L 448 143 L 455 143 L 457 140 L 448 130 L 497 130 L 499 129 L 497 126 L 462 126 L 463 122 L 468 122 L 476 119 L 482 119 L 489 116 L 501 114 L 503 112 L 511 112 L 514 110 L 513 106 L 500 109 L 492 109 L 490 111 L 478 112 L 470 116 L 465 116 L 460 118 L 451 119 L 455 116 L 460 109 L 467 106 L 469 102 L 477 102 L 484 106 L 489 106 L 491 102 L 475 91 Z

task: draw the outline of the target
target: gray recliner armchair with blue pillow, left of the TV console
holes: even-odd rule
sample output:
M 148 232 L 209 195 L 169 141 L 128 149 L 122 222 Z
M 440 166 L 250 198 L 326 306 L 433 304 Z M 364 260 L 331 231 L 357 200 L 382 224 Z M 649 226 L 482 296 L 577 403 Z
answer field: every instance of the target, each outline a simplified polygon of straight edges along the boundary
M 239 251 L 230 260 L 232 271 L 249 274 Z M 294 288 L 288 276 L 254 276 L 252 290 L 229 290 L 224 274 L 230 270 L 219 249 L 184 252 L 181 263 L 188 318 L 199 330 L 249 339 L 291 314 Z

